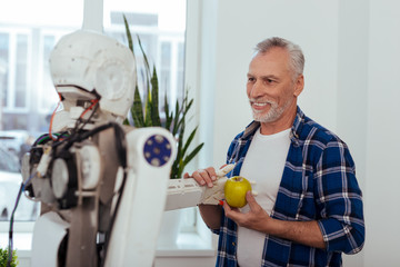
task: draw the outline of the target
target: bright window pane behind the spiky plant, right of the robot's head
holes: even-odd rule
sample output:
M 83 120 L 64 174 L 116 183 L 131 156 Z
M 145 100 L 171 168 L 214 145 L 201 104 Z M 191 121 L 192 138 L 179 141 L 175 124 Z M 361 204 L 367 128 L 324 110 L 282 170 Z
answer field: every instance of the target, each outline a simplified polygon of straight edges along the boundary
M 128 44 L 123 16 L 132 33 L 138 67 L 143 66 L 143 58 L 137 37 L 140 38 L 149 57 L 150 67 L 156 66 L 160 110 L 163 109 L 166 93 L 173 108 L 176 100 L 181 101 L 184 93 L 186 0 L 133 0 L 130 4 L 122 0 L 104 0 L 104 32 Z M 143 82 L 140 75 L 138 79 L 139 83 Z M 146 92 L 141 91 L 141 96 L 143 98 Z M 181 229 L 193 230 L 197 220 L 196 208 L 187 208 L 181 215 Z

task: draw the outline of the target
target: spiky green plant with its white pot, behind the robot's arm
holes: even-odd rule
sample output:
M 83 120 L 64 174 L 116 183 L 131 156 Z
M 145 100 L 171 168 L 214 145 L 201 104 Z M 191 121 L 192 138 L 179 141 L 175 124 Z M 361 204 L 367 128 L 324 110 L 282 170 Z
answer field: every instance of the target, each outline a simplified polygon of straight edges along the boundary
M 126 27 L 126 34 L 128 39 L 129 49 L 132 51 L 134 57 L 133 50 L 133 41 L 132 36 L 129 29 L 129 24 L 127 18 L 123 16 L 124 27 Z M 163 127 L 169 130 L 172 136 L 177 140 L 177 157 L 172 164 L 170 178 L 177 179 L 181 178 L 184 167 L 196 157 L 196 155 L 201 150 L 202 146 L 204 145 L 201 142 L 200 145 L 196 146 L 193 150 L 189 152 L 189 147 L 193 141 L 198 127 L 190 131 L 189 137 L 186 139 L 184 134 L 187 132 L 186 122 L 188 111 L 192 107 L 193 99 L 188 98 L 188 91 L 186 91 L 183 99 L 181 102 L 178 100 L 176 101 L 176 107 L 173 110 L 170 109 L 167 92 L 164 95 L 164 109 L 162 112 L 159 110 L 159 81 L 157 77 L 157 70 L 153 66 L 150 69 L 150 65 L 148 61 L 148 57 L 143 50 L 143 47 L 140 42 L 140 38 L 138 36 L 138 44 L 143 57 L 143 66 L 144 73 L 143 77 L 143 87 L 142 91 L 144 91 L 144 101 L 142 101 L 139 92 L 139 85 L 138 79 L 136 79 L 136 87 L 134 87 L 134 96 L 133 96 L 133 105 L 130 109 L 130 117 L 131 120 L 128 118 L 126 119 L 126 125 L 132 125 L 134 127 Z M 138 67 L 138 66 L 137 66 Z M 137 71 L 140 68 L 136 68 Z M 136 78 L 138 78 L 138 75 Z M 162 119 L 161 119 L 162 118 Z M 170 210 L 166 211 L 163 215 L 163 221 L 160 229 L 160 238 L 158 240 L 159 246 L 169 246 L 171 243 L 176 243 L 180 221 L 181 221 L 181 210 Z

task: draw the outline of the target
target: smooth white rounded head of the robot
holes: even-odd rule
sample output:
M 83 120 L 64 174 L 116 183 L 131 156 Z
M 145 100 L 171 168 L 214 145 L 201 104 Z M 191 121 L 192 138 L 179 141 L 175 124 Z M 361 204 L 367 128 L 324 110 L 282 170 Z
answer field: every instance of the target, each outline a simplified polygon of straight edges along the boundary
M 50 55 L 53 85 L 64 110 L 100 97 L 100 111 L 123 120 L 133 101 L 134 58 L 128 47 L 101 33 L 78 30 Z

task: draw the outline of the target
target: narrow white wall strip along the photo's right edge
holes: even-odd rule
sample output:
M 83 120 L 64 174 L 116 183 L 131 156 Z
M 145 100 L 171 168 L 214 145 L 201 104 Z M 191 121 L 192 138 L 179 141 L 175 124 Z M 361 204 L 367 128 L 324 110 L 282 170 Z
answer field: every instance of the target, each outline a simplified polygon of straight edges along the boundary
M 370 0 L 366 266 L 399 266 L 400 2 Z

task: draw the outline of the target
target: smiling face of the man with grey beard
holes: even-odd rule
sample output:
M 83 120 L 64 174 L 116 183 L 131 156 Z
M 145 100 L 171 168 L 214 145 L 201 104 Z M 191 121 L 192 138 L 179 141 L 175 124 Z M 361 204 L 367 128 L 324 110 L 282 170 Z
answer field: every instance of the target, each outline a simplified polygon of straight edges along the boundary
M 274 122 L 283 113 L 297 106 L 300 95 L 298 81 L 293 81 L 289 68 L 289 53 L 282 48 L 272 48 L 258 53 L 250 62 L 247 93 L 253 119 L 260 122 Z

